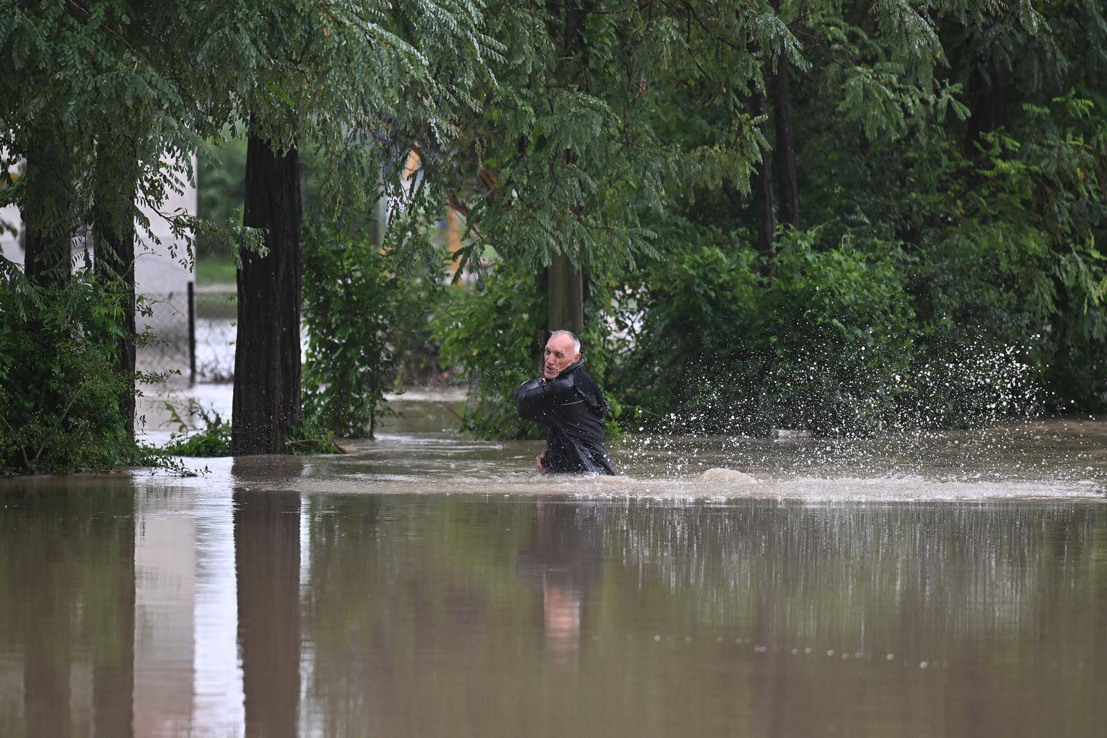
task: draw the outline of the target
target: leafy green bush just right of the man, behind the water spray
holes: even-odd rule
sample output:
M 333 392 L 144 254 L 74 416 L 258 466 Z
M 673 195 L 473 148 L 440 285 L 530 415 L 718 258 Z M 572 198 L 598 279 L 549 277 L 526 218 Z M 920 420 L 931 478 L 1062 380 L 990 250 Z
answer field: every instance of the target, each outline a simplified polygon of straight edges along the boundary
M 911 360 L 912 313 L 894 250 L 818 230 L 785 233 L 775 270 L 717 231 L 649 264 L 641 321 L 617 384 L 643 427 L 873 429 Z

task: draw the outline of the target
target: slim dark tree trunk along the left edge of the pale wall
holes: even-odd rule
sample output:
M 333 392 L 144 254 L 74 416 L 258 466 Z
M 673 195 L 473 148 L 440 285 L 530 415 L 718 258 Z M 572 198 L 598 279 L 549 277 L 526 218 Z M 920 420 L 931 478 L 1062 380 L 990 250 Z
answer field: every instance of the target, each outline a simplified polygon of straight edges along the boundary
M 125 377 L 120 393 L 120 414 L 127 435 L 135 436 L 135 219 L 134 197 L 138 178 L 136 156 L 112 147 L 97 163 L 97 191 L 93 212 L 96 278 L 120 299 L 120 328 L 115 372 Z

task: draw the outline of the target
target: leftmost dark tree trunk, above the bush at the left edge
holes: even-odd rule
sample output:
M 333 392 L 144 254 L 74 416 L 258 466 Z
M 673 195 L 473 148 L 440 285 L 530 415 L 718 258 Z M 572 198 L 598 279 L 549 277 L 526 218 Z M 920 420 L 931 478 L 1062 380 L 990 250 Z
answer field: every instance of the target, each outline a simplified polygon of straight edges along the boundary
M 70 237 L 76 230 L 73 163 L 65 143 L 37 131 L 27 152 L 27 196 L 21 216 L 27 231 L 23 272 L 40 287 L 69 281 Z

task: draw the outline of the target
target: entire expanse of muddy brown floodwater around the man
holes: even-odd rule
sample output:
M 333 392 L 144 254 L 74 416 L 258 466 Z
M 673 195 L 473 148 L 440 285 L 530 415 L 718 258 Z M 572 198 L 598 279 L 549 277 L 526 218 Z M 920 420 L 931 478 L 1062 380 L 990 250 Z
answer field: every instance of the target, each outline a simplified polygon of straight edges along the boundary
M 1107 735 L 1107 424 L 0 482 L 0 736 Z M 711 467 L 753 481 L 704 481 Z

